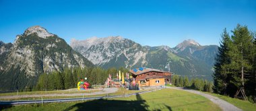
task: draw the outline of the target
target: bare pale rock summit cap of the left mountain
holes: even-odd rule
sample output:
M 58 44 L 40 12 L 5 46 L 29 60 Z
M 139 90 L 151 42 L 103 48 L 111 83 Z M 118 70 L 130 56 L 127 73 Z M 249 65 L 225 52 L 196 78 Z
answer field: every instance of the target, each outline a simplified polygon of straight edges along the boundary
M 44 29 L 44 27 L 40 27 L 38 25 L 29 27 L 28 29 L 26 29 L 26 31 L 24 32 L 24 35 L 30 35 L 32 33 L 36 33 L 38 37 L 42 37 L 44 39 L 46 39 L 46 37 L 53 36 L 53 34 L 49 33 L 46 29 Z

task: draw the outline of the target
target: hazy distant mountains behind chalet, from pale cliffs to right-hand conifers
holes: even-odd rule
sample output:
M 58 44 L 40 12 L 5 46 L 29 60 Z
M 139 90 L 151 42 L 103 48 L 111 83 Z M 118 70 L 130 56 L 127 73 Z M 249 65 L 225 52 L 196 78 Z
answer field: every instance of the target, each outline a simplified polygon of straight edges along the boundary
M 71 47 L 103 68 L 148 67 L 207 79 L 212 78 L 212 66 L 218 50 L 217 45 L 201 46 L 191 39 L 170 48 L 141 46 L 123 37 L 72 39 Z

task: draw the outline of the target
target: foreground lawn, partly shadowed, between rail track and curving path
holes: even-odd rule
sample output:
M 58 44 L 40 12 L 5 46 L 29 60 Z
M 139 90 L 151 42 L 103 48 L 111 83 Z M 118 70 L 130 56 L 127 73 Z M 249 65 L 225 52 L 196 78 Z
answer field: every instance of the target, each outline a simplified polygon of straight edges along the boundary
M 86 102 L 65 102 L 11 106 L 5 110 L 221 110 L 203 96 L 181 90 L 156 92 Z

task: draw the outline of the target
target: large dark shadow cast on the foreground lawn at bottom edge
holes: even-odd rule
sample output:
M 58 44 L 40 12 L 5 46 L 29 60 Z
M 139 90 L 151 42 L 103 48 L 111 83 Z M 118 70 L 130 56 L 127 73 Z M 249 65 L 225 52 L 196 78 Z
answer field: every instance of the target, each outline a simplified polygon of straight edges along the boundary
M 66 110 L 149 110 L 146 100 L 143 100 L 139 94 L 136 94 L 137 100 L 92 100 L 88 102 L 82 102 L 66 108 Z M 168 110 L 172 110 L 170 106 L 166 106 Z M 156 109 L 161 110 L 161 109 Z

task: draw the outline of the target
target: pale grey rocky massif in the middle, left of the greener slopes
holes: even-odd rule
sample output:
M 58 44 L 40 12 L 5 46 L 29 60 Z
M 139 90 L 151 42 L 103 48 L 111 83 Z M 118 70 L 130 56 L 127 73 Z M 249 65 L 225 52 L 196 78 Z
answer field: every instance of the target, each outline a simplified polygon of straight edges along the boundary
M 92 37 L 84 41 L 71 40 L 71 47 L 97 66 L 131 68 L 146 65 L 147 48 L 123 37 Z

